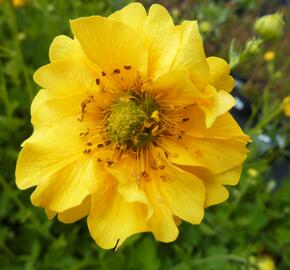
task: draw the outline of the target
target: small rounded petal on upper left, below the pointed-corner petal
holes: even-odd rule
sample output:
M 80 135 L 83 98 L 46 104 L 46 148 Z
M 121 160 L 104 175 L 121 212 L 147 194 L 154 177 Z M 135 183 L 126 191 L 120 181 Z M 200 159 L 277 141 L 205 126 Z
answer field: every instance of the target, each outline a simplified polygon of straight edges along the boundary
M 96 77 L 96 71 L 81 61 L 61 60 L 41 67 L 33 78 L 56 96 L 70 96 L 98 89 Z

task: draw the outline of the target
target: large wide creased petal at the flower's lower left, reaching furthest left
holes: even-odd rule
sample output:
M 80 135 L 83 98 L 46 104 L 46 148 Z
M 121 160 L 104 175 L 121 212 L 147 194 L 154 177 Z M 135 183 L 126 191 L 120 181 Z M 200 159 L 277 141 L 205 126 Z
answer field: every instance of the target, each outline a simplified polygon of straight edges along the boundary
M 62 212 L 78 206 L 105 173 L 93 156 L 84 155 L 79 136 L 83 126 L 65 119 L 26 140 L 16 166 L 20 189 L 38 185 L 31 200 L 36 206 Z

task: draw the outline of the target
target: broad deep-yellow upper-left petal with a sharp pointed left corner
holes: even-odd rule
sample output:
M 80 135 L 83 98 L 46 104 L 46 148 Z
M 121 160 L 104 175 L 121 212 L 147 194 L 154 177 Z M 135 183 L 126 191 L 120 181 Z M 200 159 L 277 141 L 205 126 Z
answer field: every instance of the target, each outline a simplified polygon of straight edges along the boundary
M 107 74 L 125 77 L 124 66 L 147 74 L 148 52 L 142 33 L 121 22 L 92 16 L 71 21 L 71 28 L 87 56 Z

